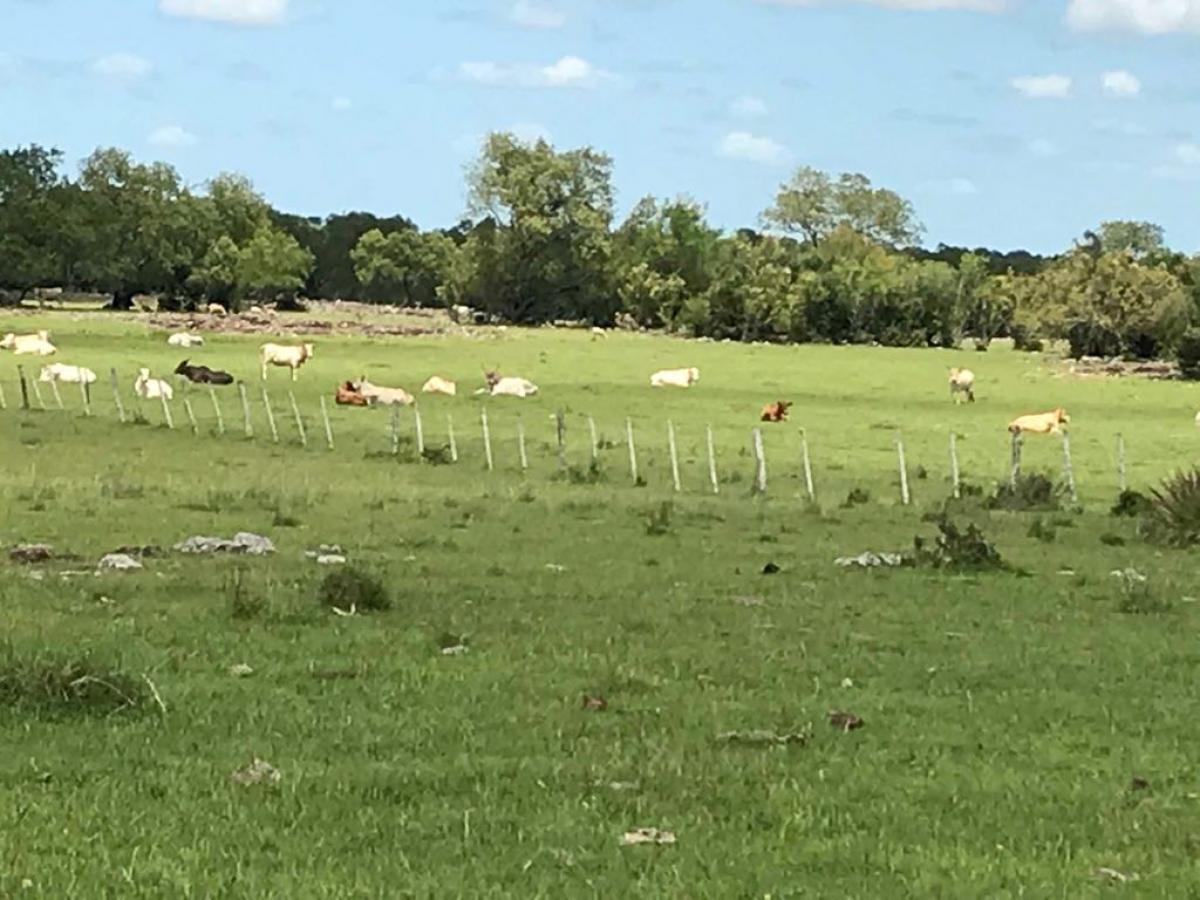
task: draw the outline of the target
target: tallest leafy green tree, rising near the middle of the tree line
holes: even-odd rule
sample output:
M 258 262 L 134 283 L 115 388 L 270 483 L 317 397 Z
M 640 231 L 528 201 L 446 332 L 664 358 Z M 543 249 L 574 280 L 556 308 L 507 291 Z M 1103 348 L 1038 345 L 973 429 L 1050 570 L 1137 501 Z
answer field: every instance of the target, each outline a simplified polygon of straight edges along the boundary
M 611 174 L 590 148 L 488 136 L 468 178 L 472 214 L 494 226 L 472 234 L 468 258 L 485 266 L 473 282 L 487 286 L 472 305 L 512 322 L 611 322 Z

